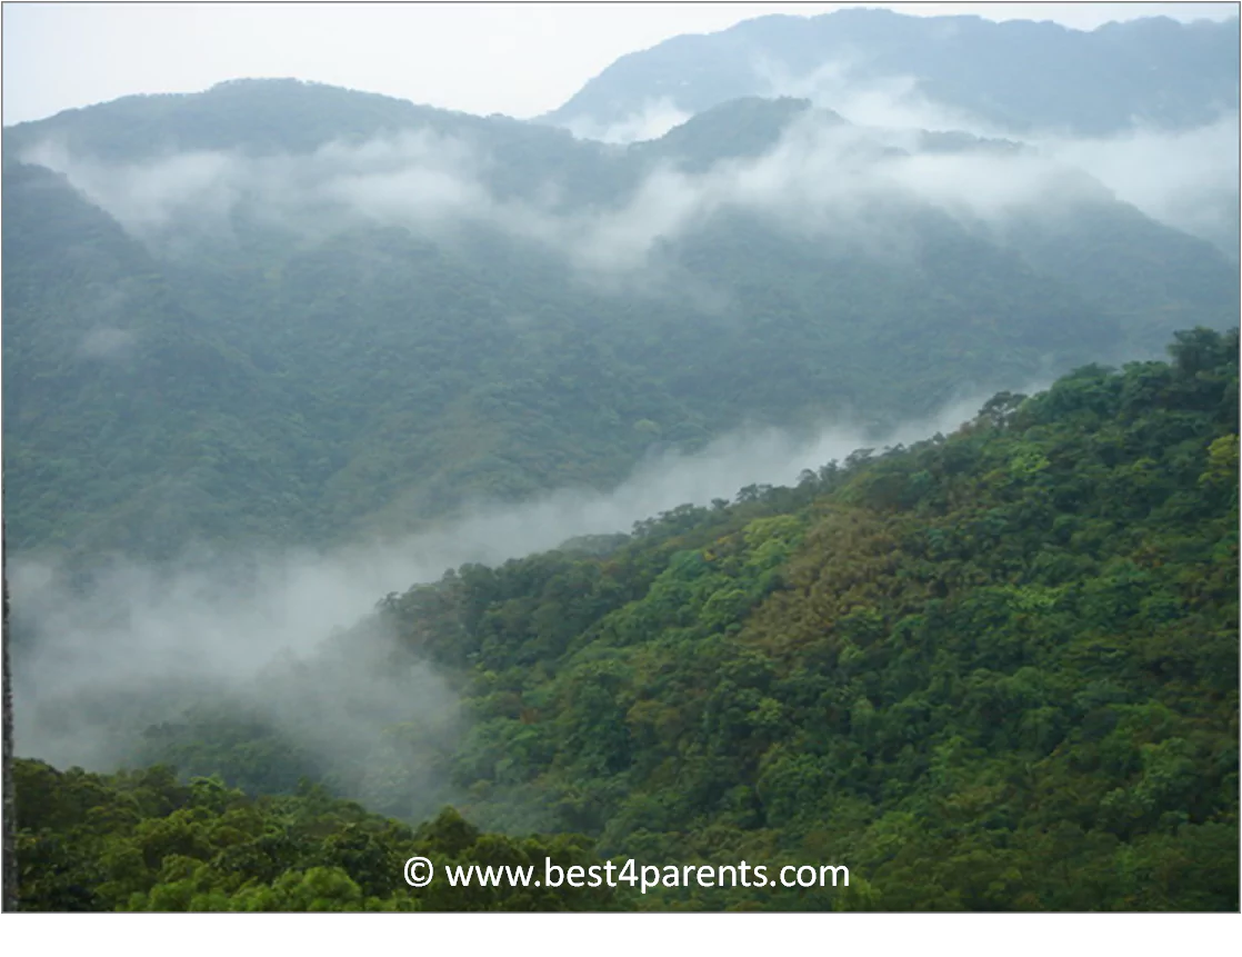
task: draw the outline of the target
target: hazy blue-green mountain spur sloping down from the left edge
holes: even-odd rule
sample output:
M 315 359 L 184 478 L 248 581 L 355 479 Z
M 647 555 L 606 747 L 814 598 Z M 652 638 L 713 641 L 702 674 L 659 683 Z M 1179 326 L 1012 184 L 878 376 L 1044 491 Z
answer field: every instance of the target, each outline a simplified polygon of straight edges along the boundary
M 166 556 L 186 526 L 216 521 L 224 486 L 238 531 L 268 533 L 278 476 L 304 449 L 296 396 L 189 312 L 147 250 L 63 180 L 9 164 L 5 194 L 14 546 Z

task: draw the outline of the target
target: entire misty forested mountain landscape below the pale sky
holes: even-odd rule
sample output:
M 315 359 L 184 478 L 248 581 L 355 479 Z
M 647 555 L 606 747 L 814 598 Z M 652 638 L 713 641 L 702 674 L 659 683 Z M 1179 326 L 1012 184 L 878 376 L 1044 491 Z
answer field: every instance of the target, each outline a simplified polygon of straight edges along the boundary
M 853 7 L 6 127 L 20 910 L 1236 911 L 1237 77 Z

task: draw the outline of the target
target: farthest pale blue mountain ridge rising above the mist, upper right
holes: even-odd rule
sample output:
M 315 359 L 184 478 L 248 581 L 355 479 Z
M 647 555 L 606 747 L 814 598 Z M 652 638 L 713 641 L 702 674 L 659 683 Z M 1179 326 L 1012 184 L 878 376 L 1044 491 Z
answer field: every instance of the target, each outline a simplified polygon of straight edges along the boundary
M 1016 134 L 1189 129 L 1237 113 L 1238 47 L 1236 19 L 1149 17 L 1088 32 L 858 7 L 775 15 L 628 53 L 542 119 L 606 129 L 656 104 L 696 114 L 800 88 L 818 88 L 831 102 L 862 86 L 932 101 Z

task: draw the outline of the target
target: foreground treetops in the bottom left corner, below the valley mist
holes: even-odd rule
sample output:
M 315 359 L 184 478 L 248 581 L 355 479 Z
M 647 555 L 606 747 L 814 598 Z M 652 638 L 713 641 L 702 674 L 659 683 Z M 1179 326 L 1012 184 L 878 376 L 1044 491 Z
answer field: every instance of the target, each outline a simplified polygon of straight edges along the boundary
M 303 783 L 247 798 L 217 778 L 179 783 L 163 767 L 113 776 L 16 762 L 20 906 L 40 911 L 560 911 L 614 910 L 614 889 L 412 889 L 411 856 L 443 875 L 472 865 L 594 863 L 571 835 L 483 834 L 451 809 L 417 829 Z

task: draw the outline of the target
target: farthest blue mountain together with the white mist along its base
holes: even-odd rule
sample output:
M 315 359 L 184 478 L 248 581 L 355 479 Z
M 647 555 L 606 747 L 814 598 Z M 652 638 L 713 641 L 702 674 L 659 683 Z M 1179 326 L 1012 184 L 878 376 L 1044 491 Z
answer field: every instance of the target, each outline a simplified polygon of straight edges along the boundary
M 628 143 L 741 97 L 854 123 L 1018 138 L 1238 257 L 1238 20 L 1092 31 L 843 9 L 764 16 L 619 58 L 540 122 Z M 1195 168 L 1186 181 L 1170 167 Z

